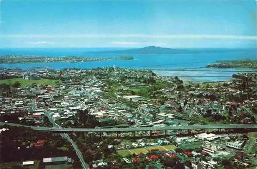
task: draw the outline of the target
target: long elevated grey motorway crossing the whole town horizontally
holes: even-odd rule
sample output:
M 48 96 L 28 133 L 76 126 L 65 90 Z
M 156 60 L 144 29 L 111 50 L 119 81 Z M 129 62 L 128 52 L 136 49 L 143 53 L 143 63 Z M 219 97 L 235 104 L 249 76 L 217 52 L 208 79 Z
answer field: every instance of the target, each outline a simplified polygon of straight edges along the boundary
M 257 129 L 256 124 L 221 124 L 221 125 L 189 125 L 189 126 L 165 126 L 165 127 L 130 127 L 130 128 L 57 128 L 57 127 L 35 127 L 15 123 L 0 122 L 0 125 L 24 126 L 34 130 L 52 132 L 139 132 L 151 130 L 184 130 L 184 129 L 219 129 L 219 128 L 249 128 Z

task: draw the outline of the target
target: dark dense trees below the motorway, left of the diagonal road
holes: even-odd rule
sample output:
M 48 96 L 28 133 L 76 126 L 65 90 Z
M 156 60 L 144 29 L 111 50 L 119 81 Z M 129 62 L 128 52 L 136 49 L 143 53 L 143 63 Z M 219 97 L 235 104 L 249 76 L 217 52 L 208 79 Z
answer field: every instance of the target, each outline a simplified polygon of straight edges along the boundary
M 26 127 L 2 126 L 8 128 L 0 135 L 0 162 L 42 160 L 46 157 L 69 156 L 77 160 L 70 143 L 61 136 L 39 132 Z M 33 143 L 46 140 L 42 146 Z

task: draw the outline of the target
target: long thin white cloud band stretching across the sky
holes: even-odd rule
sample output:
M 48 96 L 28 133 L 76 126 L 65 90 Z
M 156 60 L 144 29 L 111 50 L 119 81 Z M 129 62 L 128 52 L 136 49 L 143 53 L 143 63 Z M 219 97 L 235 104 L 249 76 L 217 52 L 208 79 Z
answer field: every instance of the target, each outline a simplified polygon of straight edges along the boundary
M 147 38 L 147 39 L 221 39 L 221 40 L 257 40 L 257 36 L 247 35 L 212 35 L 212 34 L 64 34 L 64 35 L 48 35 L 48 34 L 9 34 L 0 35 L 5 38 L 42 38 L 42 39 L 83 39 L 83 38 Z M 44 41 L 43 41 L 44 42 Z

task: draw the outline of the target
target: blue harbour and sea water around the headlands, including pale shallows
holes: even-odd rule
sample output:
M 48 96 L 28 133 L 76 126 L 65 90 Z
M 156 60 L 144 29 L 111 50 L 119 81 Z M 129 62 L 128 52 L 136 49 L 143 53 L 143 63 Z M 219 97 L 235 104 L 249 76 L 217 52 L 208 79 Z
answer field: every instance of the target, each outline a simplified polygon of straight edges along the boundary
M 117 49 L 117 48 L 116 48 Z M 122 68 L 203 68 L 208 64 L 214 63 L 217 60 L 237 60 L 237 59 L 257 59 L 256 49 L 242 49 L 242 50 L 220 50 L 212 49 L 208 52 L 194 52 L 187 54 L 119 54 L 119 53 L 93 53 L 91 51 L 105 51 L 105 50 L 116 50 L 115 48 L 23 48 L 23 49 L 0 49 L 0 55 L 6 54 L 21 54 L 21 55 L 42 55 L 49 57 L 63 57 L 67 55 L 80 55 L 88 58 L 108 58 L 108 57 L 120 57 L 121 55 L 131 55 L 134 60 L 107 60 L 107 61 L 96 61 L 96 62 L 41 62 L 41 63 L 24 63 L 24 64 L 0 64 L 2 68 L 21 68 L 29 69 L 30 67 L 51 67 L 53 69 L 64 69 L 64 68 L 97 68 L 114 66 Z M 121 48 L 119 48 L 121 49 Z M 125 49 L 125 48 L 124 48 Z M 195 49 L 196 51 L 201 49 Z M 87 53 L 91 52 L 91 53 Z M 206 69 L 206 68 L 205 68 Z M 217 70 L 217 69 L 215 69 Z M 222 70 L 222 69 L 220 69 Z M 191 80 L 197 81 L 224 81 L 231 77 L 233 73 L 239 71 L 238 69 L 232 69 L 234 72 L 216 72 L 210 76 L 219 77 L 203 77 L 203 78 L 191 78 Z M 249 69 L 248 69 L 249 70 Z M 186 74 L 185 74 L 186 73 Z M 203 74 L 204 73 L 204 74 Z M 176 76 L 178 72 L 165 72 L 157 71 L 157 74 L 165 76 Z M 182 72 L 181 76 L 209 76 L 210 72 Z

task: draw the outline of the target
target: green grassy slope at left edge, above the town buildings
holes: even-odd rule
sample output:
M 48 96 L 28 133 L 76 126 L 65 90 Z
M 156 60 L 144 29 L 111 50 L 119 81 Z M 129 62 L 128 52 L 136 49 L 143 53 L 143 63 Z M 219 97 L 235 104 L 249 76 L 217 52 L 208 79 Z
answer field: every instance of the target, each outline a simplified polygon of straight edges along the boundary
M 5 84 L 14 84 L 17 81 L 21 82 L 22 86 L 32 85 L 33 83 L 57 86 L 57 84 L 56 84 L 57 80 L 51 80 L 51 79 L 25 80 L 23 78 L 14 78 L 14 79 L 0 80 L 0 84 L 4 84 L 4 83 Z

